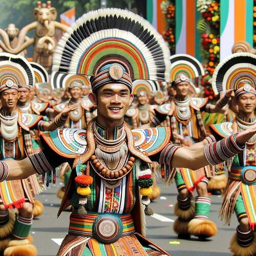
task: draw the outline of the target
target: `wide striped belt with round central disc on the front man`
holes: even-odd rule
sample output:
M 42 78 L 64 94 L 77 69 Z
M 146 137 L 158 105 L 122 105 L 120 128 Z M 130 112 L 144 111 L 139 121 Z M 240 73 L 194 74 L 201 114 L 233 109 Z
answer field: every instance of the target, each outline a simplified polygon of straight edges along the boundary
M 96 238 L 97 241 L 110 244 L 120 237 L 135 233 L 131 214 L 94 214 L 70 215 L 69 234 Z

